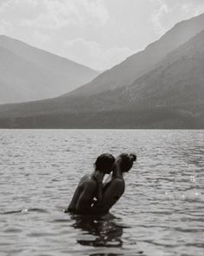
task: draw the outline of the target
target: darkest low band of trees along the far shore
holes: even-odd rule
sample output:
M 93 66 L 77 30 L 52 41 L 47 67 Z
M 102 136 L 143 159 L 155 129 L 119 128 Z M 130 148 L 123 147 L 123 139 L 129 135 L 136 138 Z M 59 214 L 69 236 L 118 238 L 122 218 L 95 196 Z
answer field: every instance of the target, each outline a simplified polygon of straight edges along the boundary
M 0 128 L 22 129 L 203 129 L 204 107 L 148 110 L 52 113 L 22 118 L 0 118 Z

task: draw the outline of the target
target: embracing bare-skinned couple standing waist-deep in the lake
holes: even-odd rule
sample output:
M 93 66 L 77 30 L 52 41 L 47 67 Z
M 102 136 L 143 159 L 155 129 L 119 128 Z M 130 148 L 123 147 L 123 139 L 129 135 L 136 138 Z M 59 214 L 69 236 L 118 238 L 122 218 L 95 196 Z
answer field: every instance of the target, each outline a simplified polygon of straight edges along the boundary
M 125 191 L 123 173 L 128 172 L 136 160 L 135 154 L 122 153 L 116 159 L 109 153 L 95 161 L 95 170 L 82 177 L 73 199 L 65 212 L 76 214 L 105 214 Z M 102 182 L 105 174 L 109 178 Z

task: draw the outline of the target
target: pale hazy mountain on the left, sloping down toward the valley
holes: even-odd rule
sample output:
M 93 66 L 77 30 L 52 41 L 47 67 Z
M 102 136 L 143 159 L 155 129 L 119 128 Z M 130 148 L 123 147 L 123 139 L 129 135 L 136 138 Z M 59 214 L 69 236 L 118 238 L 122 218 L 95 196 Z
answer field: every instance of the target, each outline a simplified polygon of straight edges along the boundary
M 82 64 L 0 36 L 0 104 L 55 98 L 98 73 Z

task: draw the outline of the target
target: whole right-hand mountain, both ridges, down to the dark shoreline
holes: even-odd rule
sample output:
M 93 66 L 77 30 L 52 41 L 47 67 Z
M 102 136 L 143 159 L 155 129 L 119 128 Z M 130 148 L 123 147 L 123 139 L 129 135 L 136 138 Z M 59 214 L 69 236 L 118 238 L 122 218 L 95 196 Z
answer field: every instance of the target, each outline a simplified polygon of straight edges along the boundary
M 1 106 L 0 127 L 204 128 L 203 98 L 201 15 L 76 91 Z

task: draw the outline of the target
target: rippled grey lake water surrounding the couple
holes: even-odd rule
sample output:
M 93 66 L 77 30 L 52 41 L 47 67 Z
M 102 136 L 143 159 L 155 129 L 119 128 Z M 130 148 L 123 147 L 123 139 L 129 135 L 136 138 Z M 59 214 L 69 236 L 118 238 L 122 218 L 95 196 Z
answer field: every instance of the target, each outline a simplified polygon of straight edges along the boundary
M 204 255 L 204 131 L 0 130 L 0 255 Z M 103 218 L 63 212 L 102 152 L 135 152 Z

